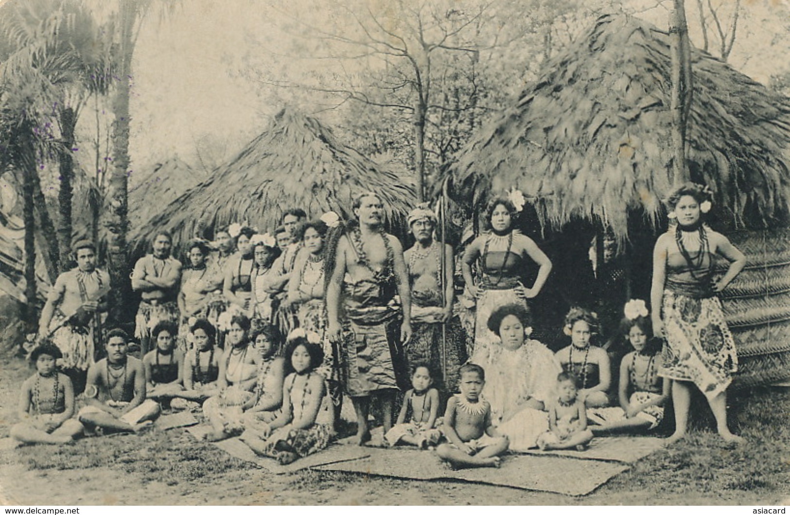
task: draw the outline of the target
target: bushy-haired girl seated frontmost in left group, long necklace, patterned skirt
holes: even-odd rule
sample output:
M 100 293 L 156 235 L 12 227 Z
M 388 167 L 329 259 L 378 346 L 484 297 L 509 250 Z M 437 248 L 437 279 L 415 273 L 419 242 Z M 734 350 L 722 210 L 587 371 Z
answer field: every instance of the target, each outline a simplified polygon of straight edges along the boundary
M 280 415 L 241 438 L 256 454 L 276 458 L 280 464 L 325 449 L 333 436 L 331 400 L 323 376 L 315 371 L 324 360 L 321 345 L 298 336 L 288 341 L 285 359 L 292 373 L 285 378 Z

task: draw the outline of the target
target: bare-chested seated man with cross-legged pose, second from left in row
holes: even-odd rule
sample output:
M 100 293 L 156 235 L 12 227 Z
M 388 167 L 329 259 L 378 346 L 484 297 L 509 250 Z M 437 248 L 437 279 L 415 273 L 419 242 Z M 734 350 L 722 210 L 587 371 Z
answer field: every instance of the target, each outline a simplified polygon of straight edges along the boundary
M 145 399 L 145 371 L 139 359 L 127 356 L 129 336 L 122 329 L 107 334 L 107 357 L 88 369 L 85 408 L 80 422 L 88 434 L 136 433 L 159 415 L 159 404 Z

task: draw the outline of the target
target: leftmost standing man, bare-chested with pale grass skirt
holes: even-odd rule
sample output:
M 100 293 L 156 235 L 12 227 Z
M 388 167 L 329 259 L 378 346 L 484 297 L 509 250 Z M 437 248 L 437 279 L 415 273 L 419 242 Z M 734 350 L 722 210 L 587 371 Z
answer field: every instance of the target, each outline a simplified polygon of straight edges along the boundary
M 88 366 L 101 354 L 101 325 L 107 312 L 104 296 L 110 291 L 110 276 L 96 268 L 93 242 L 80 240 L 72 250 L 77 268 L 55 280 L 41 312 L 39 336 L 49 337 L 60 349 L 62 372 L 79 395 L 85 389 Z

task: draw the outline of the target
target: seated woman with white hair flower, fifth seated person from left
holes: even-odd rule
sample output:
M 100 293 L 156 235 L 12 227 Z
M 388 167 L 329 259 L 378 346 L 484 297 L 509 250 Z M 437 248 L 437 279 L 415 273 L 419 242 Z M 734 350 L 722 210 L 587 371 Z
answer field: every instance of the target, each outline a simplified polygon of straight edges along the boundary
M 213 428 L 205 438 L 211 442 L 230 438 L 243 430 L 242 406 L 253 397 L 261 363 L 258 352 L 250 348 L 249 331 L 249 318 L 243 314 L 231 318 L 228 348 L 220 361 L 217 380 L 220 393 L 203 403 L 203 413 Z

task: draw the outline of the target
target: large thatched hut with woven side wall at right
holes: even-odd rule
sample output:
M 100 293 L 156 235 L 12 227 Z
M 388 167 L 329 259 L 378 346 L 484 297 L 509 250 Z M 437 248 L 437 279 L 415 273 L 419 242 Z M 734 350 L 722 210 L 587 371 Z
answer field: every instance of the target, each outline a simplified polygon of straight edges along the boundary
M 607 284 L 586 291 L 606 291 L 619 306 L 646 299 L 650 250 L 664 229 L 660 199 L 672 187 L 669 35 L 634 17 L 600 17 L 544 70 L 461 152 L 455 196 L 479 212 L 491 193 L 517 187 L 553 258 L 570 256 L 555 281 L 583 275 L 589 262 L 590 282 Z M 692 70 L 691 179 L 713 189 L 712 224 L 750 258 L 724 301 L 740 381 L 785 379 L 790 100 L 702 51 L 692 51 Z M 591 241 L 597 252 L 588 260 Z M 585 291 L 571 282 L 574 294 Z

